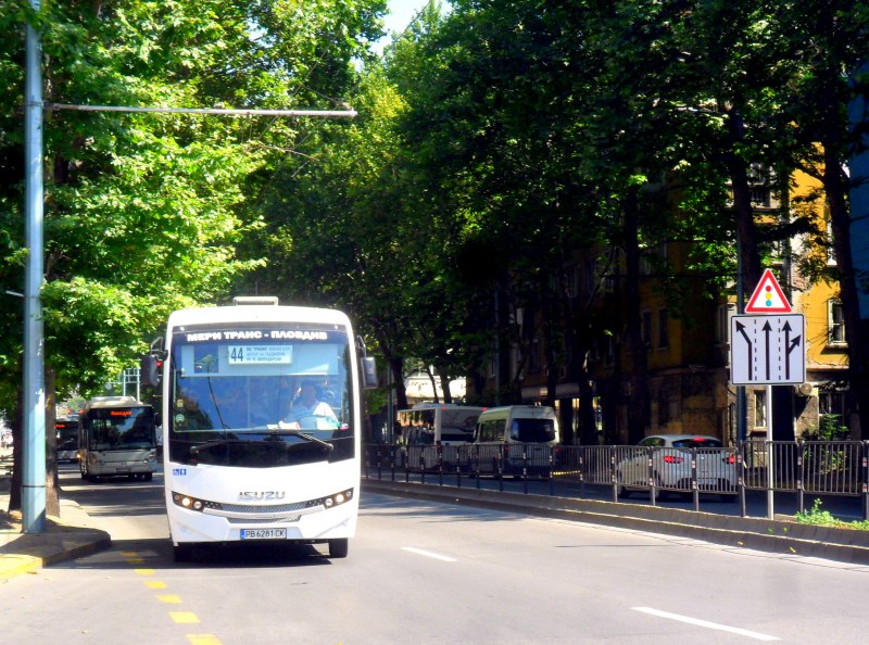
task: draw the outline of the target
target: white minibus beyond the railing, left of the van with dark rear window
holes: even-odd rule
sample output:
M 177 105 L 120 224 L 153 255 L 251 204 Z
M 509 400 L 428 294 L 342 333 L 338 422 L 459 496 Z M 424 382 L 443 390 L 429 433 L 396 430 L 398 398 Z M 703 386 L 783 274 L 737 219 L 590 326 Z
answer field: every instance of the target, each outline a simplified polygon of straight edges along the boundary
M 484 407 L 448 403 L 418 403 L 396 413 L 401 427 L 400 463 L 410 469 L 445 470 L 458 461 L 458 446 L 474 441 L 474 429 Z

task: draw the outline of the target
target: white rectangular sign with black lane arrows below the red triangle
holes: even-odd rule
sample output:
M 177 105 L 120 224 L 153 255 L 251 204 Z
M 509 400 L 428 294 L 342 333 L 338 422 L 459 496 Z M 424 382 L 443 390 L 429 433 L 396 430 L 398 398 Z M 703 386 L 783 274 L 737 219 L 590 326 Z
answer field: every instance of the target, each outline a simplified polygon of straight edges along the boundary
M 806 318 L 733 316 L 730 321 L 730 382 L 778 385 L 806 380 Z

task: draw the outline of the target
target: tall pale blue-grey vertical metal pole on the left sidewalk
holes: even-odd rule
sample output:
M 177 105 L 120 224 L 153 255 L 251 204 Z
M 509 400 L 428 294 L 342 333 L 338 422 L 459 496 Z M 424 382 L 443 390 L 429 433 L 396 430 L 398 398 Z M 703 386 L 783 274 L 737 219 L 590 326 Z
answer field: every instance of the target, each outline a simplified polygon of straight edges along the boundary
M 39 11 L 40 0 L 30 0 Z M 42 43 L 27 23 L 24 92 L 25 237 L 24 283 L 24 454 L 22 529 L 41 533 L 46 526 L 46 388 L 42 338 Z

